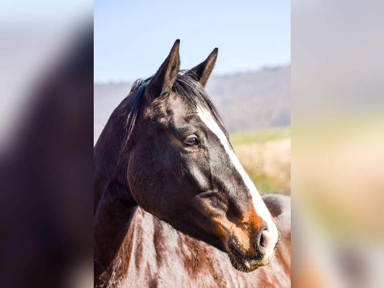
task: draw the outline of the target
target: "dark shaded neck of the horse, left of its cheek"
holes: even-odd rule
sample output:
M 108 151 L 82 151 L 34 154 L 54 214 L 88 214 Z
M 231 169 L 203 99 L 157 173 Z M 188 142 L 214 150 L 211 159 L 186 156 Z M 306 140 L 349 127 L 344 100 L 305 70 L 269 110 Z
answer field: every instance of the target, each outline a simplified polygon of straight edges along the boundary
M 137 204 L 126 183 L 124 107 L 113 111 L 94 148 L 95 279 L 113 262 L 128 232 Z

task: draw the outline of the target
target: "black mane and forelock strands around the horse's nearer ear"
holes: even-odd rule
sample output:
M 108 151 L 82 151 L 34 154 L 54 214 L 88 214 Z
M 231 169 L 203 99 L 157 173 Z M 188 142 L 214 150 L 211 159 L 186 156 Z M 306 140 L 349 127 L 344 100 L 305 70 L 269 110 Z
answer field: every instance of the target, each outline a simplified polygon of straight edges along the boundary
M 181 95 L 189 104 L 195 107 L 208 108 L 214 118 L 224 126 L 224 122 L 215 104 L 208 96 L 204 87 L 194 79 L 185 74 L 188 70 L 182 70 L 178 73 L 175 81 L 173 82 L 169 92 Z M 189 75 L 193 72 L 189 71 Z M 136 118 L 139 112 L 140 103 L 142 102 L 142 95 L 144 94 L 146 86 L 150 83 L 152 77 L 146 79 L 137 79 L 131 87 L 129 94 L 135 93 L 133 97 L 126 104 L 126 130 L 127 137 L 124 148 L 133 132 L 135 127 Z M 168 92 L 168 93 L 169 93 Z

